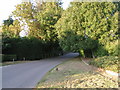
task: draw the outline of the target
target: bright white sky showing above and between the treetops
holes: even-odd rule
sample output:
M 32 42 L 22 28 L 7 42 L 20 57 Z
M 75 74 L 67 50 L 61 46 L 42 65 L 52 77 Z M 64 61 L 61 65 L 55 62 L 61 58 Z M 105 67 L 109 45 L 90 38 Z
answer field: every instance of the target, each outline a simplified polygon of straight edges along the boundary
M 64 9 L 68 7 L 70 1 L 72 0 L 62 0 L 62 2 L 64 2 Z M 0 25 L 3 23 L 3 20 L 8 19 L 12 11 L 15 10 L 15 6 L 17 4 L 20 4 L 21 2 L 22 0 L 2 0 L 2 2 L 0 3 Z

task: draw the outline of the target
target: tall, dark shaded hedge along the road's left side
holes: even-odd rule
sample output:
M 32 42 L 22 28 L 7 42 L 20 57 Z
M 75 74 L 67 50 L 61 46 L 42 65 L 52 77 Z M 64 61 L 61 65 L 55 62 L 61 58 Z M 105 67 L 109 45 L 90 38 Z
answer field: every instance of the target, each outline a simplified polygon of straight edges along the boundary
M 58 42 L 44 42 L 37 38 L 4 38 L 3 54 L 15 54 L 18 60 L 39 60 L 58 56 L 62 49 Z

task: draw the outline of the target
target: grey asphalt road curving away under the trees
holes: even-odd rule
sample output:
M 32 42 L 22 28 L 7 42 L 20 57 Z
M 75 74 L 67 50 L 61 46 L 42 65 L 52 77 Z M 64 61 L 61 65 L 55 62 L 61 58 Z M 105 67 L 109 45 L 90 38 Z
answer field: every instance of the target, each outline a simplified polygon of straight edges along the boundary
M 69 53 L 63 56 L 2 67 L 2 88 L 34 88 L 53 67 L 78 56 Z

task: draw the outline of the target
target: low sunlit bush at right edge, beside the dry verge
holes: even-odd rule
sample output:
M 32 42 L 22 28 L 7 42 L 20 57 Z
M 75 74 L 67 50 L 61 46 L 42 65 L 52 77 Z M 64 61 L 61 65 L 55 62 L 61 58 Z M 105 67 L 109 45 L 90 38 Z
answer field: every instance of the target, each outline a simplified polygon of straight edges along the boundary
M 118 56 L 104 56 L 98 57 L 90 62 L 90 64 L 103 68 L 105 70 L 111 70 L 118 72 Z

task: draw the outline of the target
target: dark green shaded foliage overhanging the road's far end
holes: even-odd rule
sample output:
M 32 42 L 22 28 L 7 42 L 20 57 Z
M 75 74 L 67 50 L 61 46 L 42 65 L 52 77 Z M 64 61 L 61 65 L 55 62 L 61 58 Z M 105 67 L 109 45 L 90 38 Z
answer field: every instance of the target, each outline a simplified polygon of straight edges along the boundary
M 97 57 L 108 54 L 98 40 L 86 34 L 79 35 L 72 30 L 63 32 L 59 39 L 59 43 L 64 51 L 78 52 L 82 57 Z

